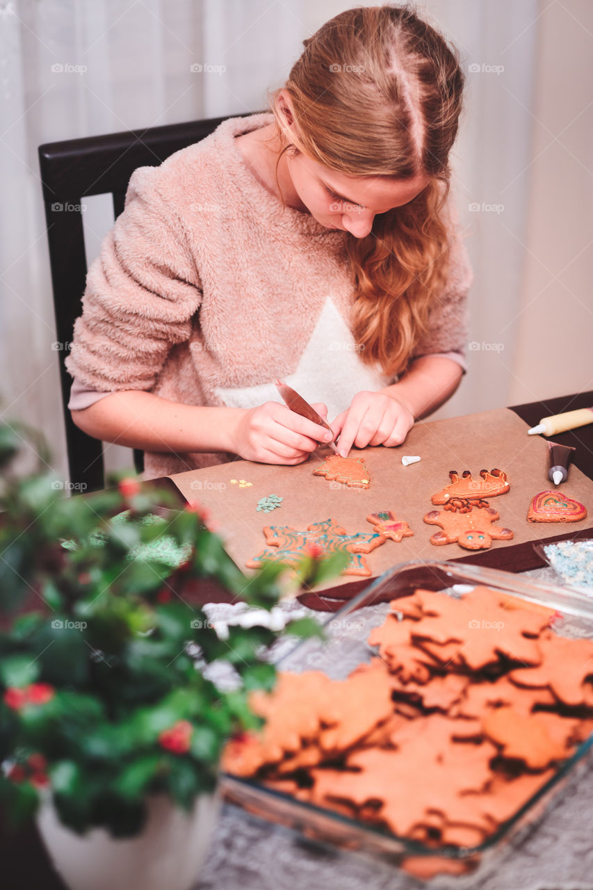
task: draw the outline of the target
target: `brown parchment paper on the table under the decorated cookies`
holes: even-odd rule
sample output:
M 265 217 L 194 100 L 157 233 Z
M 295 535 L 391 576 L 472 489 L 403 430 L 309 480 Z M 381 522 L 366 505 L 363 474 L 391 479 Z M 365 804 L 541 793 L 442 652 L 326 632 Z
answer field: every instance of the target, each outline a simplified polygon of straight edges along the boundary
M 363 457 L 370 472 L 367 490 L 348 489 L 313 475 L 313 469 L 330 453 L 327 447 L 320 447 L 304 464 L 296 466 L 237 460 L 175 473 L 169 478 L 187 500 L 196 500 L 210 510 L 212 519 L 219 523 L 218 532 L 225 540 L 227 552 L 247 574 L 250 570 L 245 568 L 245 563 L 266 546 L 262 531 L 266 525 L 291 525 L 304 530 L 313 522 L 331 518 L 348 534 L 370 532 L 372 526 L 366 522 L 369 514 L 394 510 L 398 519 L 408 522 L 414 535 L 403 538 L 400 543 L 386 540 L 365 554 L 370 577 L 376 577 L 399 562 L 451 560 L 472 552 L 459 544 L 430 544 L 430 536 L 439 527 L 423 522 L 430 510 L 443 509 L 433 505 L 431 496 L 449 485 L 450 470 L 459 473 L 470 470 L 475 478 L 479 478 L 480 470 L 494 467 L 508 473 L 510 490 L 490 498 L 490 506 L 500 514 L 500 520 L 494 524 L 513 530 L 515 537 L 509 541 L 493 541 L 492 549 L 553 537 L 593 524 L 593 480 L 576 466 L 571 466 L 568 480 L 558 486 L 558 490 L 581 501 L 589 515 L 581 522 L 527 522 L 532 497 L 555 488 L 548 480 L 547 441 L 540 436 L 528 436 L 527 429 L 524 421 L 506 408 L 448 420 L 420 421 L 397 448 L 352 449 L 350 456 Z M 419 455 L 421 460 L 403 466 L 404 454 Z M 232 479 L 250 481 L 253 485 L 240 488 Z M 284 498 L 282 506 L 271 513 L 256 512 L 257 501 L 272 494 Z M 360 580 L 357 576 L 345 575 L 315 590 L 357 580 Z

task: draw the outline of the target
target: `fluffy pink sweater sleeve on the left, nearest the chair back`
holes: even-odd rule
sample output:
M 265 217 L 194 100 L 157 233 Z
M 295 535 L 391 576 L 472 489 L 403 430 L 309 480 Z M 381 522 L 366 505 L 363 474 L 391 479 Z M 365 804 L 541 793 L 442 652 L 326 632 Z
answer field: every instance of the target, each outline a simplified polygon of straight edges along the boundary
M 158 170 L 134 172 L 124 212 L 86 277 L 66 368 L 89 390 L 150 391 L 171 347 L 191 336 L 199 273 L 173 202 L 157 188 Z

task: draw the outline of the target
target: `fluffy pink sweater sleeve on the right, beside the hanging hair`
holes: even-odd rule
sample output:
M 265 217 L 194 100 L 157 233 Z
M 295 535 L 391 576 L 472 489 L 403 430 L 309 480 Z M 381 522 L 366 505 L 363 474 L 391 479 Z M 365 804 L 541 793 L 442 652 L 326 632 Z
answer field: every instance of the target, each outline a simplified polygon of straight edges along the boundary
M 451 202 L 449 214 L 451 253 L 447 283 L 441 294 L 435 294 L 428 313 L 426 331 L 416 344 L 412 359 L 418 359 L 422 355 L 456 353 L 455 356 L 447 355 L 447 358 L 458 360 L 465 370 L 468 337 L 467 294 L 474 280 L 474 274 L 469 263 L 457 211 Z

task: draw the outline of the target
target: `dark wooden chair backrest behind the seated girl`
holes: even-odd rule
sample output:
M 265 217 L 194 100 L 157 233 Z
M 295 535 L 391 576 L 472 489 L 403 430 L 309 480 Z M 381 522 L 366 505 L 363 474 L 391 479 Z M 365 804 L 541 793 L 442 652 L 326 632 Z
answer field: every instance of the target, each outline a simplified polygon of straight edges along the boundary
M 57 341 L 72 342 L 74 322 L 85 292 L 85 235 L 81 205 L 91 195 L 111 194 L 115 217 L 124 209 L 130 176 L 139 166 L 158 166 L 175 151 L 199 142 L 228 117 L 210 117 L 187 124 L 150 127 L 39 146 L 39 166 L 52 268 L 53 309 Z M 65 213 L 64 208 L 69 212 Z M 102 442 L 83 433 L 67 408 L 72 378 L 64 365 L 67 348 L 58 351 L 61 401 L 66 423 L 70 482 L 83 491 L 102 489 Z M 134 451 L 141 472 L 143 452 Z M 84 488 L 82 487 L 84 486 Z

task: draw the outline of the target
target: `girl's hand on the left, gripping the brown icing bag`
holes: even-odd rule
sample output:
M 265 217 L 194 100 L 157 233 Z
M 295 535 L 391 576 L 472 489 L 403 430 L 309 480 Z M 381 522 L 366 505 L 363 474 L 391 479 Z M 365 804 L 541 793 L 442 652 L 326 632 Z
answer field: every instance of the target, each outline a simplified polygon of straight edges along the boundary
M 318 414 L 327 419 L 326 405 L 314 404 Z M 291 411 L 277 401 L 266 401 L 256 408 L 244 409 L 232 432 L 234 454 L 260 464 L 301 464 L 320 442 L 331 440 L 325 426 Z

